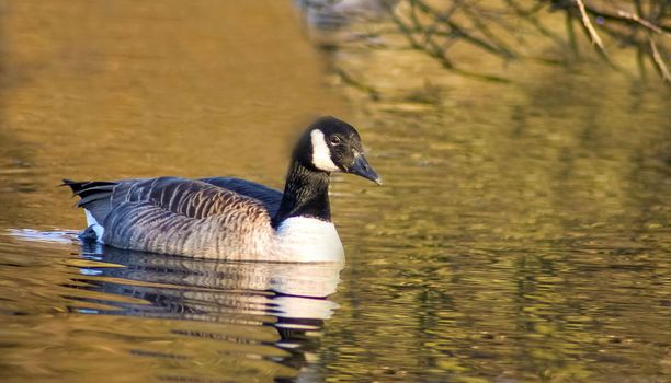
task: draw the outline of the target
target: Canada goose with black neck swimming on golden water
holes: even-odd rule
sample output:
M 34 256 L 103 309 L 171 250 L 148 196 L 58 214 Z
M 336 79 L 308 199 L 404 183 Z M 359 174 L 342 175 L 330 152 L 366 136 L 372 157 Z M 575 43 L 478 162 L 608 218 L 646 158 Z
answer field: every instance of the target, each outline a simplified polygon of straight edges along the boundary
M 380 184 L 354 127 L 322 117 L 296 144 L 284 193 L 253 182 L 178 177 L 72 182 L 81 236 L 120 248 L 211 259 L 342 262 L 331 222 L 329 175 Z

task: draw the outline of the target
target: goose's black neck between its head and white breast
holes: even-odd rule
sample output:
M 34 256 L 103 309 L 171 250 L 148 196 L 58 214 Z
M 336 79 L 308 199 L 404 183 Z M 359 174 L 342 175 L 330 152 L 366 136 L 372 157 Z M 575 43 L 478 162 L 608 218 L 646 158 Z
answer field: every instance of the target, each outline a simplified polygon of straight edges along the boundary
M 273 217 L 277 228 L 287 218 L 309 217 L 331 221 L 329 205 L 329 173 L 309 169 L 294 159 L 288 174 L 280 209 Z

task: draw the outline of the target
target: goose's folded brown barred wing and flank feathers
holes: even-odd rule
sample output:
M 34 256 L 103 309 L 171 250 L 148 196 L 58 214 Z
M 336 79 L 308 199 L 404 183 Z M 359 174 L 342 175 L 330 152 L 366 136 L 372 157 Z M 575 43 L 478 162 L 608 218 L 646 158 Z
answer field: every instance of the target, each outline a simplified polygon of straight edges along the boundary
M 198 179 L 65 181 L 104 228 L 104 243 L 139 251 L 227 257 L 262 248 L 272 233 L 262 202 Z M 99 239 L 100 240 L 100 239 Z

